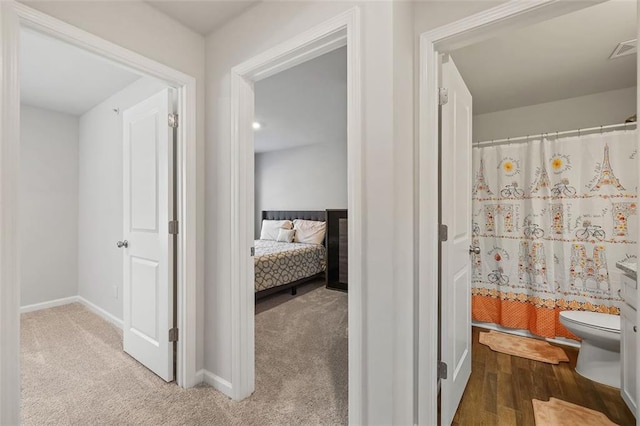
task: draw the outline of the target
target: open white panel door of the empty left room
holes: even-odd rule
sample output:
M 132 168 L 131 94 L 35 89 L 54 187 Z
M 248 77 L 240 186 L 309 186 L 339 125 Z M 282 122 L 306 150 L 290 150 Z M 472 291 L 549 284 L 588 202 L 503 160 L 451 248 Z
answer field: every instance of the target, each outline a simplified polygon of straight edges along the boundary
M 127 109 L 124 132 L 124 350 L 173 380 L 173 129 L 169 89 Z M 122 246 L 122 242 L 119 242 Z

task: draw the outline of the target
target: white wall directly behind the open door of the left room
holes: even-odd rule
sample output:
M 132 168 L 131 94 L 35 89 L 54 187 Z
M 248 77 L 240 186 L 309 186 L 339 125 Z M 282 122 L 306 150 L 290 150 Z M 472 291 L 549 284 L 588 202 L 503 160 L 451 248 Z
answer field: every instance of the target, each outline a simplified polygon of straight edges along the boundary
M 116 247 L 123 232 L 122 112 L 164 87 L 137 80 L 80 117 L 78 295 L 117 319 L 122 319 L 122 250 Z

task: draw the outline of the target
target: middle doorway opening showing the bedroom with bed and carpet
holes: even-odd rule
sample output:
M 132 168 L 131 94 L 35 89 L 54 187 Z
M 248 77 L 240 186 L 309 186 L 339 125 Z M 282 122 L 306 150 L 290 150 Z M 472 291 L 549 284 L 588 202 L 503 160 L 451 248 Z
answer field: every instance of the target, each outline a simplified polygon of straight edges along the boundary
M 346 50 L 254 84 L 251 400 L 287 395 L 310 422 L 348 421 Z

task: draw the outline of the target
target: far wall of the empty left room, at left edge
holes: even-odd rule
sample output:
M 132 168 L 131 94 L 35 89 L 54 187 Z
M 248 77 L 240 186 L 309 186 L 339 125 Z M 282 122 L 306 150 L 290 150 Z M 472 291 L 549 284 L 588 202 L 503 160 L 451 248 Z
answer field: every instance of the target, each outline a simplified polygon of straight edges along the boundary
M 20 108 L 20 304 L 78 291 L 78 118 Z

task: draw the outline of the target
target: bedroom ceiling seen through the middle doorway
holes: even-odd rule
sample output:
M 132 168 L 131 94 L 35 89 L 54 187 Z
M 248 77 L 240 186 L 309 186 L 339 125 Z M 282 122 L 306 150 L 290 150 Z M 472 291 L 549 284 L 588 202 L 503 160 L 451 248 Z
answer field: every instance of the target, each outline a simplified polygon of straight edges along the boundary
M 342 47 L 255 86 L 256 153 L 347 139 L 347 48 Z

